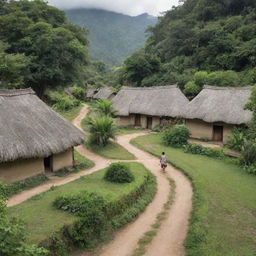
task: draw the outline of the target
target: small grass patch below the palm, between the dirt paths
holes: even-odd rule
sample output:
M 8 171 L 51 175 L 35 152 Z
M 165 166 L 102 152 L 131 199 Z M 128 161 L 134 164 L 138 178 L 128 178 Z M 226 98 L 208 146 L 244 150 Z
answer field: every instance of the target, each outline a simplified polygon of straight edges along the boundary
M 124 147 L 120 146 L 116 142 L 109 142 L 105 147 L 100 147 L 97 145 L 86 144 L 86 147 L 102 157 L 109 159 L 118 160 L 134 160 L 136 159 L 133 154 L 131 154 Z

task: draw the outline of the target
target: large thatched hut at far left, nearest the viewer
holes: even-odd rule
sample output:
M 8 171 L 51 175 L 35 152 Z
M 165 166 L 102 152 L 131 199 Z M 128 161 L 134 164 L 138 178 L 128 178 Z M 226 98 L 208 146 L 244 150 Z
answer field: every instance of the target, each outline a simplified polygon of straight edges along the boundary
M 84 134 L 32 89 L 0 90 L 0 179 L 12 183 L 73 165 Z

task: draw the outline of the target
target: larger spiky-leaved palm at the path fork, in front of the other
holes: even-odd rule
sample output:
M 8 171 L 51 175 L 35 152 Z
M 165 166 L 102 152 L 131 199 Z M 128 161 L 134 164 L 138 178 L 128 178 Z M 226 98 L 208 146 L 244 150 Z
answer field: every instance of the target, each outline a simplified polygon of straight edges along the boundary
M 116 127 L 110 116 L 88 117 L 86 120 L 88 131 L 91 134 L 90 142 L 105 146 L 109 139 L 114 139 Z

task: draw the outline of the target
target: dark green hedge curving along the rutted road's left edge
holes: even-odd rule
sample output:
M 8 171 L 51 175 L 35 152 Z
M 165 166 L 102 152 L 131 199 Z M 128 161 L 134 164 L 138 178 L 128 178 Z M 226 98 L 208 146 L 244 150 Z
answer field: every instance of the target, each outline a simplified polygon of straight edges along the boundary
M 51 252 L 49 256 L 66 256 L 76 247 L 95 247 L 144 211 L 155 193 L 156 179 L 149 173 L 140 187 L 116 202 L 106 202 L 96 193 L 88 192 L 59 197 L 54 201 L 54 207 L 79 216 L 79 220 L 63 227 L 40 246 Z

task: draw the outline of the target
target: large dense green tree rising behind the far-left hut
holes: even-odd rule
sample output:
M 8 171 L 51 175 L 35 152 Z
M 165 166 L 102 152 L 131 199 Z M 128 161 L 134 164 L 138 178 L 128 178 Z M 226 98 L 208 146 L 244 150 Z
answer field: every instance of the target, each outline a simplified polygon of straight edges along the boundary
M 57 8 L 38 0 L 8 1 L 0 12 L 0 35 L 7 45 L 0 63 L 4 87 L 29 84 L 43 96 L 47 88 L 81 81 L 88 63 L 85 30 Z

